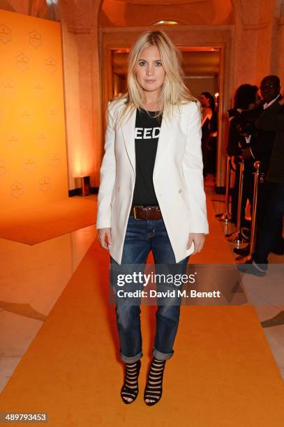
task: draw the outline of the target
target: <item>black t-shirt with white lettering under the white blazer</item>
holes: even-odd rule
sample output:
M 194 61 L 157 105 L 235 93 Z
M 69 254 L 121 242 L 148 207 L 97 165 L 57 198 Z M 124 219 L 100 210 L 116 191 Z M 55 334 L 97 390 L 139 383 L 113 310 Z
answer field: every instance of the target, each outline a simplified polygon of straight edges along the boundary
M 136 179 L 133 206 L 158 206 L 153 184 L 153 170 L 162 117 L 155 118 L 155 114 L 155 112 L 146 112 L 145 110 L 137 110 L 136 112 Z

